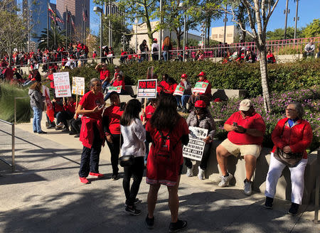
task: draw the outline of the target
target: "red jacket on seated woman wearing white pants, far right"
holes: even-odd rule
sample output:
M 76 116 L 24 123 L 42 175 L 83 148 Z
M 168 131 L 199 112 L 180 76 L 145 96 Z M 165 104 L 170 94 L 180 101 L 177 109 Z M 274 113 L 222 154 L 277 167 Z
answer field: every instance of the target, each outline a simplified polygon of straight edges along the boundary
M 272 152 L 274 152 L 277 147 L 282 149 L 284 146 L 290 146 L 292 153 L 303 152 L 303 158 L 307 158 L 306 148 L 308 148 L 312 141 L 312 129 L 309 122 L 301 119 L 297 121 L 296 125 L 290 128 L 287 121 L 287 117 L 279 120 L 272 131 L 271 139 L 274 143 Z

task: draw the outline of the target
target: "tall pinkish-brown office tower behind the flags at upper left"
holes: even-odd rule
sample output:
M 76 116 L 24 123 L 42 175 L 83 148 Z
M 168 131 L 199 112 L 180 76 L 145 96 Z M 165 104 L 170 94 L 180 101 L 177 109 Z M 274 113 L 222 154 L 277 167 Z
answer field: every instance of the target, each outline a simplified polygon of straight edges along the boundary
M 73 17 L 75 23 L 75 30 L 78 31 L 77 35 L 81 34 L 82 28 L 90 29 L 90 0 L 56 0 L 57 1 L 57 13 L 61 16 L 65 22 L 66 8 L 70 11 L 70 15 Z M 84 21 L 84 18 L 86 19 Z M 65 29 L 65 25 L 63 25 Z M 68 30 L 74 33 L 73 27 L 68 23 Z M 78 38 L 81 39 L 81 38 Z

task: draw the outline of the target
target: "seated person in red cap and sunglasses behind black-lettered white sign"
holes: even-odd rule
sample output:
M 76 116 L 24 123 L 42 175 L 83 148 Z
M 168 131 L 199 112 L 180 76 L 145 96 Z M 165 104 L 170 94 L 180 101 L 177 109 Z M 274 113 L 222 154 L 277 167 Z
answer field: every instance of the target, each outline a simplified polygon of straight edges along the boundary
M 196 104 L 194 104 L 194 107 L 194 111 L 192 111 L 186 119 L 188 126 L 208 129 L 208 135 L 206 139 L 203 139 L 206 145 L 203 151 L 200 166 L 198 167 L 198 178 L 199 180 L 203 180 L 205 176 L 204 173 L 207 168 L 208 159 L 210 157 L 211 142 L 213 141 L 213 138 L 215 136 L 216 128 L 215 121 L 213 120 L 213 117 L 207 108 L 206 102 L 204 102 L 203 100 L 197 100 Z M 193 164 L 190 158 L 184 159 L 187 167 L 186 176 L 190 177 L 192 176 Z

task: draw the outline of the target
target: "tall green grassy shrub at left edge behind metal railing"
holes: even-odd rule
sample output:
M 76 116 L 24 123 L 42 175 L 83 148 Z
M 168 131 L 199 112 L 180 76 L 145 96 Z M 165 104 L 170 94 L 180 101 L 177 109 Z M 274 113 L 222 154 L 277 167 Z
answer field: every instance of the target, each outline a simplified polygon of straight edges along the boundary
M 21 88 L 2 82 L 0 89 L 0 119 L 14 122 L 14 97 L 28 97 L 28 88 Z M 16 99 L 17 122 L 30 122 L 31 113 L 30 98 Z

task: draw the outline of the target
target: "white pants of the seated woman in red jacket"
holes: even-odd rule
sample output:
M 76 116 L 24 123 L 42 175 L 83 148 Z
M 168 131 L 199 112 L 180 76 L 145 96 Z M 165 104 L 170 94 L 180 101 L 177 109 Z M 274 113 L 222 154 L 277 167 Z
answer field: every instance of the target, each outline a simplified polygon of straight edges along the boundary
M 291 201 L 299 205 L 301 205 L 302 196 L 304 195 L 304 169 L 306 168 L 307 162 L 308 159 L 302 158 L 297 166 L 295 166 L 294 168 L 289 168 L 292 185 Z M 278 180 L 282 175 L 282 170 L 285 167 L 286 165 L 274 158 L 273 153 L 271 153 L 270 166 L 265 187 L 265 195 L 267 197 L 274 198 Z

